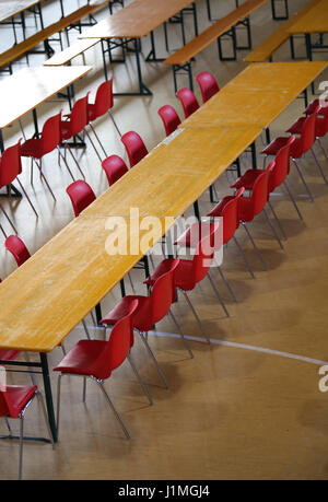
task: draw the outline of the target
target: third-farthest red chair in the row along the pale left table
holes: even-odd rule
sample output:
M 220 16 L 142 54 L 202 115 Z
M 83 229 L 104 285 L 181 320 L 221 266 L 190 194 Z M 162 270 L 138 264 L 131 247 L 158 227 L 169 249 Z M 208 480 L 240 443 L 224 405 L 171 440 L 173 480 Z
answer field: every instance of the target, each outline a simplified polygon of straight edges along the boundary
M 54 191 L 51 190 L 49 183 L 47 178 L 45 177 L 42 168 L 42 159 L 47 154 L 52 152 L 55 149 L 58 150 L 58 154 L 61 156 L 61 159 L 65 162 L 65 165 L 72 177 L 74 179 L 71 170 L 66 161 L 65 155 L 62 155 L 61 150 L 60 150 L 60 143 L 61 143 L 61 131 L 60 131 L 60 124 L 61 124 L 61 114 L 62 110 L 59 112 L 59 114 L 55 115 L 54 117 L 48 118 L 43 127 L 43 130 L 39 135 L 38 138 L 32 138 L 26 140 L 22 145 L 21 145 L 21 155 L 22 156 L 28 156 L 31 157 L 37 165 L 40 175 L 43 179 L 45 180 L 48 190 L 50 191 L 54 200 L 56 200 L 56 197 L 54 195 Z M 39 161 L 39 162 L 37 162 Z M 31 168 L 31 183 L 32 183 L 32 177 L 33 177 L 33 164 Z

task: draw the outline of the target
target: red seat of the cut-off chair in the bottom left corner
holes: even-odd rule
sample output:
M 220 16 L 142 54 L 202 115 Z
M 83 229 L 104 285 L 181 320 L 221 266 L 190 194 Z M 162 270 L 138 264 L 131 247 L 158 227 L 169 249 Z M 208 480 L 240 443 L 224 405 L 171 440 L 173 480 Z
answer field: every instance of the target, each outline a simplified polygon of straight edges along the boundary
M 17 418 L 30 399 L 33 398 L 37 386 L 8 385 L 5 387 L 5 401 L 0 399 L 0 417 Z M 1 393 L 0 393 L 1 396 Z

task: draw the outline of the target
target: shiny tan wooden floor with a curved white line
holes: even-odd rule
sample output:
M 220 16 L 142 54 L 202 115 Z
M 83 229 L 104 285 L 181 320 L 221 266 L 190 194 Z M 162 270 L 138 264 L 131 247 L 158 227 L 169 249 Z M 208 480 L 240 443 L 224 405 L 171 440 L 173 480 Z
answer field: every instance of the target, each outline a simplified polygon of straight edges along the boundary
M 305 1 L 290 3 L 293 3 L 291 11 L 294 12 Z M 198 0 L 198 4 L 201 31 L 208 25 L 206 2 Z M 220 2 L 220 15 L 229 12 L 231 4 L 234 4 L 231 0 Z M 55 9 L 51 15 L 54 12 Z M 107 11 L 99 13 L 99 19 L 102 15 L 107 15 Z M 191 16 L 187 16 L 187 23 L 191 36 Z M 271 20 L 268 2 L 253 16 L 254 45 L 277 25 Z M 175 25 L 171 27 L 176 34 L 176 39 L 174 36 L 172 39 L 174 46 L 179 43 L 179 32 Z M 1 28 L 1 44 L 4 33 L 11 33 L 9 27 Z M 163 31 L 159 30 L 156 36 L 161 40 Z M 78 97 L 90 89 L 95 91 L 103 80 L 97 49 L 95 47 L 86 55 L 86 63 L 95 63 L 97 69 L 79 83 Z M 300 55 L 304 54 L 304 49 L 300 39 Z M 223 63 L 218 61 L 218 48 L 213 45 L 197 58 L 195 74 L 209 69 L 223 85 L 245 68 L 245 63 L 241 62 L 244 54 L 238 55 L 237 62 Z M 278 57 L 288 60 L 289 46 L 279 49 L 276 60 Z M 325 55 L 320 57 L 324 59 Z M 42 63 L 42 56 L 32 60 L 35 65 Z M 114 115 L 122 131 L 137 130 L 151 149 L 164 137 L 157 108 L 168 103 L 177 108 L 180 116 L 181 109 L 174 97 L 169 69 L 162 65 L 143 65 L 143 70 L 144 80 L 154 95 L 116 98 Z M 124 85 L 129 78 L 127 85 L 130 85 L 133 63 L 115 66 L 114 75 L 116 82 L 121 79 Z M 321 80 L 327 80 L 327 74 L 323 74 Z M 187 85 L 187 81 L 181 81 L 180 85 Z M 196 94 L 200 100 L 198 89 Z M 38 112 L 40 122 L 62 105 L 67 107 L 55 101 L 45 104 Z M 272 125 L 272 138 L 283 133 L 303 109 L 303 100 L 290 106 Z M 30 117 L 23 121 L 28 136 L 33 129 Z M 98 121 L 97 130 L 108 154 L 124 156 L 119 138 L 107 118 Z M 5 144 L 13 144 L 19 136 L 14 125 L 4 132 Z M 328 138 L 324 144 L 328 151 Z M 258 140 L 258 150 L 260 148 L 261 139 Z M 315 149 L 328 173 L 327 160 L 317 145 Z M 107 185 L 91 145 L 87 145 L 85 154 L 80 155 L 86 180 L 99 195 Z M 58 197 L 58 202 L 54 205 L 38 176 L 35 176 L 34 188 L 31 187 L 30 163 L 24 165 L 25 186 L 42 213 L 40 218 L 35 219 L 25 200 L 3 200 L 3 205 L 11 208 L 20 236 L 33 253 L 73 218 L 65 192 L 70 178 L 62 167 L 58 167 L 56 154 L 45 159 L 45 173 Z M 249 156 L 243 156 L 243 165 L 244 168 L 250 166 Z M 190 294 L 211 337 L 211 346 L 204 342 L 192 314 L 180 299 L 174 312 L 184 332 L 192 338 L 190 345 L 195 359 L 189 358 L 168 319 L 157 325 L 159 336 L 151 335 L 149 339 L 171 388 L 167 390 L 164 387 L 138 338 L 132 354 L 154 406 L 149 406 L 126 363 L 106 383 L 131 441 L 124 437 L 94 384 L 89 383 L 86 402 L 83 404 L 82 381 L 65 377 L 59 442 L 54 451 L 48 444 L 31 442 L 25 445 L 25 479 L 328 479 L 328 395 L 321 393 L 318 386 L 319 367 L 326 361 L 328 363 L 328 186 L 311 154 L 306 155 L 302 167 L 315 195 L 315 203 L 305 197 L 304 187 L 293 167 L 290 184 L 297 195 L 304 222 L 300 221 L 285 195 L 271 198 L 288 235 L 288 241 L 283 241 L 284 250 L 280 249 L 262 214 L 249 225 L 269 270 L 262 269 L 246 234 L 239 229 L 236 235 L 254 267 L 256 279 L 250 278 L 233 243 L 224 252 L 223 270 L 236 293 L 237 303 L 232 302 L 219 273 L 212 271 L 231 317 L 224 316 L 206 280 Z M 232 182 L 231 174 L 230 179 L 222 176 L 218 180 L 220 197 L 230 194 Z M 203 194 L 200 208 L 203 214 L 211 208 L 208 194 Z M 14 268 L 13 259 L 0 245 L 0 277 L 4 278 Z M 133 270 L 132 276 L 138 292 L 145 293 L 142 271 Z M 119 290 L 115 289 L 103 302 L 104 312 L 118 299 Z M 86 322 L 91 332 L 101 338 L 103 332 L 93 328 L 90 317 Z M 81 337 L 84 338 L 84 332 L 82 327 L 78 327 L 67 338 L 67 350 Z M 50 354 L 51 367 L 61 355 L 60 349 Z M 11 374 L 9 381 L 30 382 L 28 376 L 23 374 Z M 56 381 L 56 375 L 52 375 L 55 398 Z M 40 381 L 39 384 L 42 387 Z M 37 408 L 35 402 L 26 412 L 27 435 L 46 434 Z M 12 421 L 12 428 L 17 430 L 17 423 Z M 5 424 L 1 421 L 0 434 L 4 432 Z M 2 441 L 0 479 L 16 478 L 17 458 L 17 443 Z

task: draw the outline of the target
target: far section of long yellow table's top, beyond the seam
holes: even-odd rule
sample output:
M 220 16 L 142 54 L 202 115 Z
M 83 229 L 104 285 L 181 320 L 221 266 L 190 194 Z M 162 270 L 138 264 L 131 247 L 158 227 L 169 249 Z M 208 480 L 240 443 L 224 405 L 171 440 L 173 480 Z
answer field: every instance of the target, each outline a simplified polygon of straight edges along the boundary
M 268 127 L 327 66 L 321 61 L 249 65 L 180 127 Z

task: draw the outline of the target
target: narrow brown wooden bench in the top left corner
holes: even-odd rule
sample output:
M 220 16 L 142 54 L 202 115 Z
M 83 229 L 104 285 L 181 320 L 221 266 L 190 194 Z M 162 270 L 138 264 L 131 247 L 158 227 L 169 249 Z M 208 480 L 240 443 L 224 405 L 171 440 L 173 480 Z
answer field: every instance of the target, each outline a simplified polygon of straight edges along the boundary
M 62 48 L 61 32 L 63 30 L 67 31 L 70 27 L 78 27 L 81 33 L 81 27 L 84 25 L 83 23 L 81 23 L 81 20 L 85 16 L 90 16 L 90 22 L 87 23 L 87 25 L 94 24 L 96 21 L 92 16 L 93 12 L 107 4 L 108 1 L 110 0 L 97 0 L 93 3 L 87 3 L 86 5 L 81 7 L 80 9 L 70 13 L 69 15 L 61 17 L 56 23 L 45 27 L 40 32 L 35 33 L 31 37 L 21 42 L 20 44 L 15 44 L 13 47 L 0 55 L 0 68 L 2 69 L 1 71 L 9 71 L 10 73 L 12 73 L 12 62 L 22 56 L 27 56 L 28 52 L 38 54 L 38 51 L 33 49 L 42 43 L 44 43 L 45 48 L 45 50 L 42 52 L 45 52 L 48 56 L 48 58 L 50 58 L 55 51 L 50 47 L 49 39 L 54 37 L 54 35 L 59 34 L 59 38 L 57 38 L 57 40 L 60 42 Z

